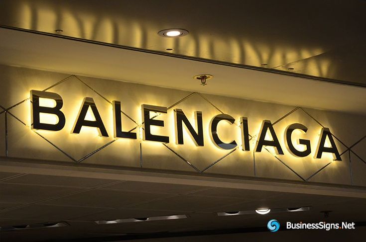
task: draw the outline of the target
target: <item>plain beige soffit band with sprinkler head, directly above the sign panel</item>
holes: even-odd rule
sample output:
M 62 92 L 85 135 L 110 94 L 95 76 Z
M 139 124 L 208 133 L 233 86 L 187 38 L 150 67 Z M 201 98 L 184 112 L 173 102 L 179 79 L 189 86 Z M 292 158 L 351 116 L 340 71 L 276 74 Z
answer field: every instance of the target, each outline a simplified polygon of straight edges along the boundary
M 366 88 L 0 28 L 0 64 L 366 114 Z M 211 74 L 201 86 L 193 76 Z

